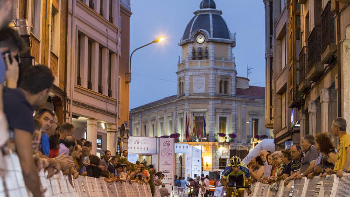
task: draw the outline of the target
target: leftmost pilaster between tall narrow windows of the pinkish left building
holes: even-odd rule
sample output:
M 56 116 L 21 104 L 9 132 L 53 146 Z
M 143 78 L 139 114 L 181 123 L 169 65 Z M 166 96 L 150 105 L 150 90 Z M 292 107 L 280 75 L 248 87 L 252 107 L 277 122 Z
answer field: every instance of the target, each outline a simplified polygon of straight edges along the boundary
M 88 5 L 89 6 L 89 5 Z M 87 56 L 88 56 L 88 45 L 89 37 L 82 35 L 80 37 L 80 77 L 82 86 L 87 88 Z M 74 76 L 77 77 L 77 76 Z

